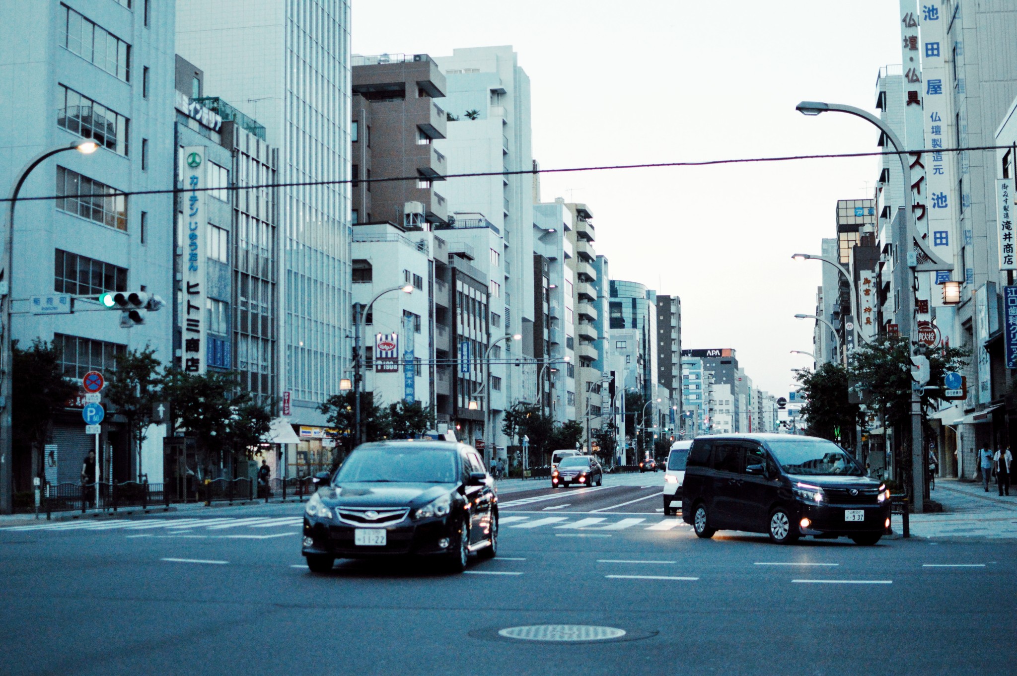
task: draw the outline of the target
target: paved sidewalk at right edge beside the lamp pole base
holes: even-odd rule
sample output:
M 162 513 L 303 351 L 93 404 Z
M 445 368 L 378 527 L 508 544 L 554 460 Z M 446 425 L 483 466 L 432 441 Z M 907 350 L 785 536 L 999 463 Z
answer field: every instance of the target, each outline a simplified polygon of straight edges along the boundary
M 995 485 L 986 493 L 981 482 L 937 479 L 932 499 L 943 504 L 943 512 L 911 514 L 911 535 L 1017 539 L 1017 491 L 1000 497 Z

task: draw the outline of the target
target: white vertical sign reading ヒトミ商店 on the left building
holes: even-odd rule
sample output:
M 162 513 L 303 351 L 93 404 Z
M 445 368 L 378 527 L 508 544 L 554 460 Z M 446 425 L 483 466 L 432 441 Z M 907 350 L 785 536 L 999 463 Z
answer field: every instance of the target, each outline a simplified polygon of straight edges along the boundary
M 205 235 L 208 217 L 205 213 L 205 177 L 203 145 L 184 147 L 184 191 L 180 208 L 183 211 L 183 300 L 180 306 L 180 328 L 183 336 L 181 366 L 187 373 L 204 373 L 206 363 L 205 298 L 207 283 L 205 265 Z

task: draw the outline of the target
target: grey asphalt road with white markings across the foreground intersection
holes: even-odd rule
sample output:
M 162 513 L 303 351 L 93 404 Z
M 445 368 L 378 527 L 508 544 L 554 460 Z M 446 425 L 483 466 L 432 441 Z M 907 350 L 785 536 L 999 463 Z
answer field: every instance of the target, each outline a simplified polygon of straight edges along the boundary
M 1017 541 L 699 540 L 662 481 L 504 491 L 498 558 L 462 575 L 312 574 L 293 503 L 0 527 L 0 674 L 1015 672 Z M 536 624 L 625 634 L 498 634 Z

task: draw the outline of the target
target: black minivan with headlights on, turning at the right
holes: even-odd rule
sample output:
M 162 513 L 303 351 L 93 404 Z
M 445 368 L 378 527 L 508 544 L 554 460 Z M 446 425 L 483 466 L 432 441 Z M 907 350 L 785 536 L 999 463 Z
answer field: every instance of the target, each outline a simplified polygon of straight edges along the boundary
M 875 545 L 890 529 L 890 491 L 832 441 L 790 434 L 735 434 L 693 441 L 681 515 L 696 535 L 803 535 Z

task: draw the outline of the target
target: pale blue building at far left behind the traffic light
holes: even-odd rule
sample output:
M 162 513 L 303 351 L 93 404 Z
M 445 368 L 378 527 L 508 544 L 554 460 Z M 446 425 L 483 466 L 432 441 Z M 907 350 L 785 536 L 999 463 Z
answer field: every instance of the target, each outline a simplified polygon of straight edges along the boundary
M 72 379 L 92 370 L 110 374 L 117 355 L 145 346 L 169 364 L 169 307 L 142 313 L 145 323 L 131 328 L 120 327 L 118 312 L 82 311 L 100 307 L 85 300 L 73 301 L 73 313 L 63 312 L 71 305 L 68 296 L 140 290 L 167 303 L 173 297 L 172 195 L 115 194 L 165 189 L 172 179 L 173 5 L 5 2 L 0 21 L 6 36 L 0 46 L 0 81 L 7 83 L 0 97 L 7 121 L 0 132 L 4 194 L 41 153 L 84 140 L 99 146 L 89 155 L 50 157 L 21 187 L 22 198 L 61 198 L 16 205 L 13 264 L 3 270 L 13 313 L 12 325 L 2 327 L 4 337 L 22 348 L 37 337 L 52 342 L 61 351 L 64 375 Z M 32 299 L 38 297 L 48 297 L 61 313 L 38 313 L 46 303 L 43 298 L 37 306 Z M 9 377 L 10 366 L 3 369 Z M 45 472 L 40 456 L 15 447 L 11 458 L 3 458 L 0 478 L 7 483 L 12 472 L 15 491 L 29 491 L 34 476 L 76 482 L 82 458 L 95 447 L 81 424 L 82 405 L 78 397 L 57 414 Z M 113 415 L 99 441 L 104 480 L 136 480 L 146 471 L 138 468 L 126 429 Z M 9 486 L 0 494 L 9 495 Z

